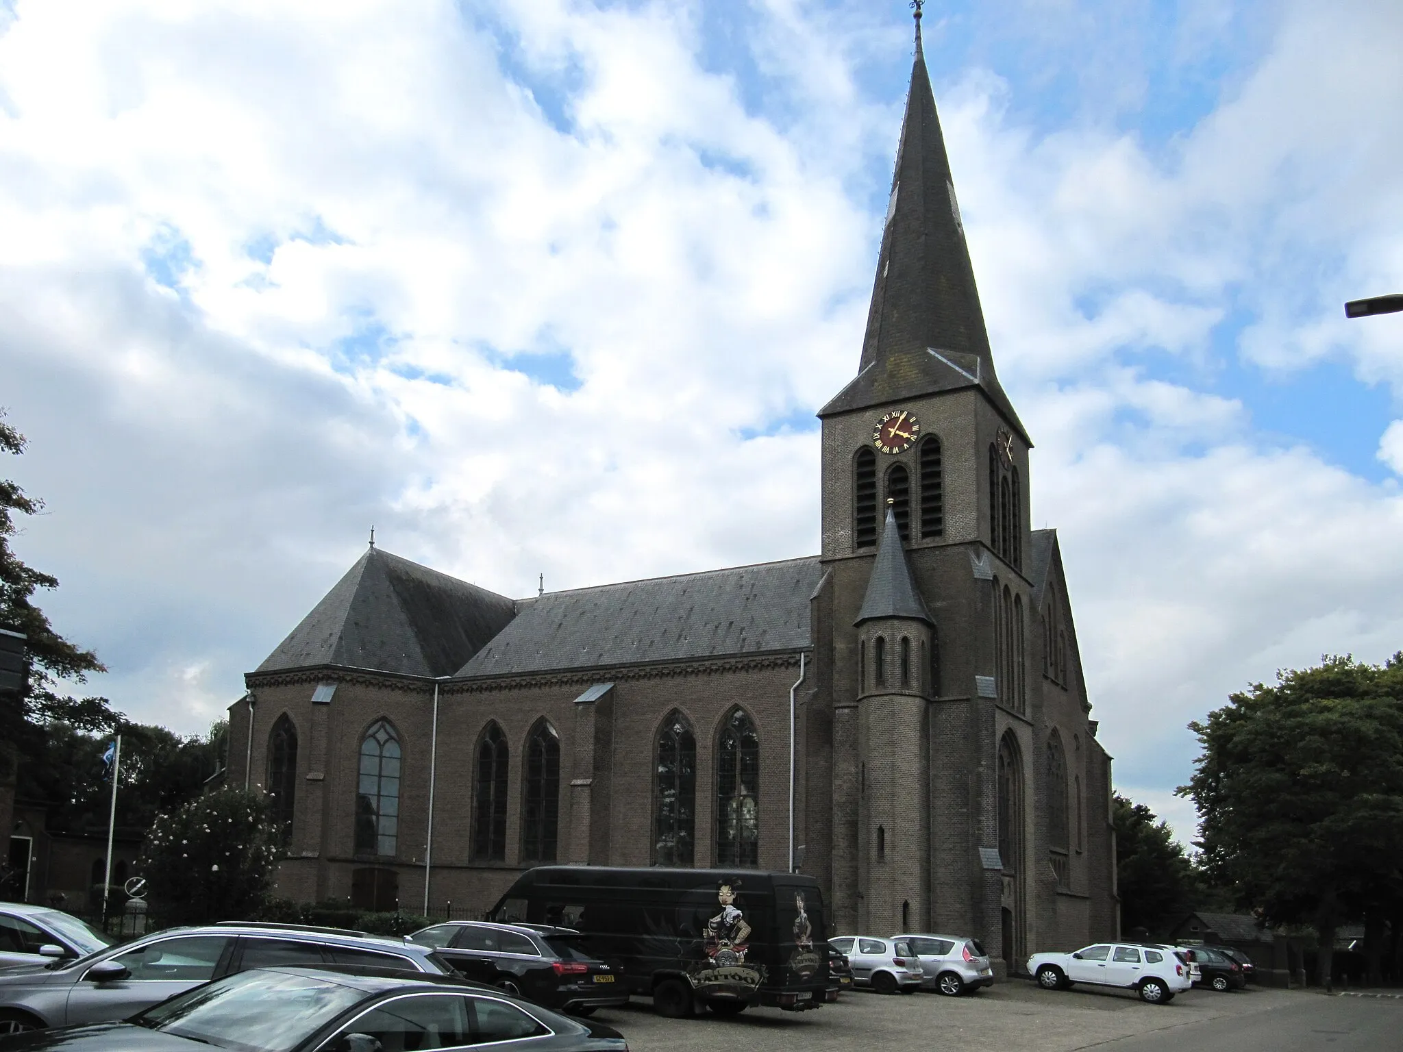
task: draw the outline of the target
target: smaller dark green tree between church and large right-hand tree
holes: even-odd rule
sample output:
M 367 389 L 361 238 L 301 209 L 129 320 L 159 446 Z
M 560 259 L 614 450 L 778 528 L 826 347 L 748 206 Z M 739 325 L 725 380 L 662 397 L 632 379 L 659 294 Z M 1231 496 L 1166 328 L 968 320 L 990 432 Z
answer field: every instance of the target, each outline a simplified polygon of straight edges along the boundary
M 1111 798 L 1111 821 L 1121 931 L 1163 931 L 1190 910 L 1202 908 L 1198 872 L 1167 822 L 1120 793 Z

